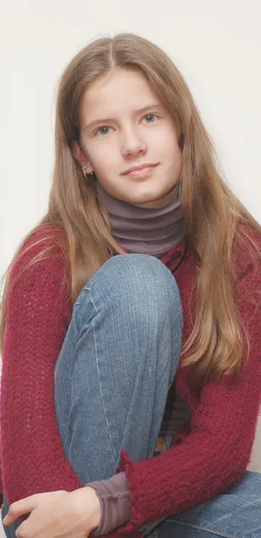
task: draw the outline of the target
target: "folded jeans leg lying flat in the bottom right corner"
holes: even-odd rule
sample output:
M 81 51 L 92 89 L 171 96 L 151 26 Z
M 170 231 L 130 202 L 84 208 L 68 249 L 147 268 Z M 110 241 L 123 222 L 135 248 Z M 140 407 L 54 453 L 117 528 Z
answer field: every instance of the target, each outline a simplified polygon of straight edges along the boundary
M 167 517 L 150 538 L 260 538 L 261 473 L 246 472 L 226 493 Z

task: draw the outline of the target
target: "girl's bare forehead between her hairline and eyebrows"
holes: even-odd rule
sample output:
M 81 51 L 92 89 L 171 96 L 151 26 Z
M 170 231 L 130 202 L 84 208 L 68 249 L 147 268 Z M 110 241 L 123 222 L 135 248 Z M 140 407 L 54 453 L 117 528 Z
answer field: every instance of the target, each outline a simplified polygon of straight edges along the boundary
M 151 102 L 160 104 L 144 74 L 116 69 L 91 83 L 83 93 L 81 109 L 84 117 L 92 117 L 94 113 L 110 117 L 143 108 Z

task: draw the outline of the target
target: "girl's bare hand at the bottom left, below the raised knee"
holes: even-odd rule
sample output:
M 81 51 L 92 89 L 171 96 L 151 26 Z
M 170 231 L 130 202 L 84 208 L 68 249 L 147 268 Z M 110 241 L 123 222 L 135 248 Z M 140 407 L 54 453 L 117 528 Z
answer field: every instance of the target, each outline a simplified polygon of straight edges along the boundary
M 17 538 L 87 538 L 100 524 L 100 500 L 90 487 L 38 493 L 10 506 L 4 525 L 30 514 L 16 531 Z

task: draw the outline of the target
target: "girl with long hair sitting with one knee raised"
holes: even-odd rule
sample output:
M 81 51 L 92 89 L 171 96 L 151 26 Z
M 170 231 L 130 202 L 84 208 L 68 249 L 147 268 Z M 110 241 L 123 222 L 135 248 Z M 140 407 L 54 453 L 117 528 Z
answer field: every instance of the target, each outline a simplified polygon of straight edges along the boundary
M 146 39 L 98 39 L 55 142 L 4 289 L 6 535 L 260 538 L 261 229 L 186 82 Z

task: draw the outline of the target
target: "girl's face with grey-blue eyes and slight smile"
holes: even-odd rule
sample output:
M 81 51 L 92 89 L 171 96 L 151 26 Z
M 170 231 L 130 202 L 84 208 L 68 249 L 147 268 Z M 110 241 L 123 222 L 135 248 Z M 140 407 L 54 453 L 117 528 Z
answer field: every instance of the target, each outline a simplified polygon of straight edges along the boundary
M 74 157 L 109 195 L 140 207 L 170 204 L 182 153 L 173 118 L 143 74 L 118 69 L 93 82 L 80 126 L 83 151 L 74 143 Z

